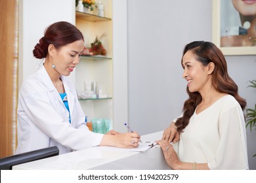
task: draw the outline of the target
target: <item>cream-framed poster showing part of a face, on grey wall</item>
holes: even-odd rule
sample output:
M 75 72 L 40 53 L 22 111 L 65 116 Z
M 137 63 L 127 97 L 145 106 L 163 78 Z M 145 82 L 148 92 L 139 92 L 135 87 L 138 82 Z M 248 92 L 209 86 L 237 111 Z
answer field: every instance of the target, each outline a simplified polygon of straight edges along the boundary
M 224 55 L 256 55 L 256 1 L 213 0 L 213 43 Z

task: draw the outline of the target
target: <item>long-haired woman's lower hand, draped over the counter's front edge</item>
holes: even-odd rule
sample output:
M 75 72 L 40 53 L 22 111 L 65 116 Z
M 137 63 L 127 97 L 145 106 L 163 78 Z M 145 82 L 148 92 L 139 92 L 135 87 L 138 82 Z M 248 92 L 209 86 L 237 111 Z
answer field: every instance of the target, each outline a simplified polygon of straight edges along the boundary
M 161 150 L 163 151 L 163 156 L 165 157 L 167 165 L 171 167 L 171 169 L 178 169 L 180 160 L 173 146 L 165 140 L 160 140 L 156 142 L 160 145 Z

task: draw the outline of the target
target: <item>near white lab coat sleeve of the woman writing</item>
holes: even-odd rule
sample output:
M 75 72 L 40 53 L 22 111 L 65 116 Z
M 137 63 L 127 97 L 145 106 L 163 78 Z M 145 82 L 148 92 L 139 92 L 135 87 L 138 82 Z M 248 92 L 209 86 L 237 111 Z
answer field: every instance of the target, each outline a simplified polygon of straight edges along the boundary
M 51 139 L 73 150 L 98 146 L 103 134 L 93 133 L 81 124 L 75 128 L 64 122 L 51 104 L 53 101 L 50 101 L 47 92 L 49 91 L 35 80 L 24 82 L 20 90 L 19 103 L 31 122 Z

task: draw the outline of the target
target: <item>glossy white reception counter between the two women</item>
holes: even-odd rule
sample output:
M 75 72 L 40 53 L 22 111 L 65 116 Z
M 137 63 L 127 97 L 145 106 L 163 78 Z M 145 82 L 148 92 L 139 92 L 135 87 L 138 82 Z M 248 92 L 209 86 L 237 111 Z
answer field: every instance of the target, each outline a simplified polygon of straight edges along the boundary
M 154 142 L 161 139 L 163 131 L 142 135 L 142 142 Z M 12 169 L 39 170 L 82 170 L 82 169 L 169 169 L 160 146 L 156 145 L 145 152 L 133 152 L 113 147 L 93 147 L 15 165 Z

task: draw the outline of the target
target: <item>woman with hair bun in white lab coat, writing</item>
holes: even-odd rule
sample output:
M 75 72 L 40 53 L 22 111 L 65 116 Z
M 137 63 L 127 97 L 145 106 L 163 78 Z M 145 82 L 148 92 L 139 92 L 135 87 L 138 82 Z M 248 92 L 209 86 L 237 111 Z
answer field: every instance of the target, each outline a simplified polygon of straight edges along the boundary
M 106 135 L 89 131 L 75 88 L 66 77 L 83 52 L 83 35 L 68 22 L 56 22 L 45 31 L 33 55 L 44 59 L 29 76 L 18 96 L 16 154 L 57 146 L 60 154 L 92 146 L 137 147 L 137 133 Z

